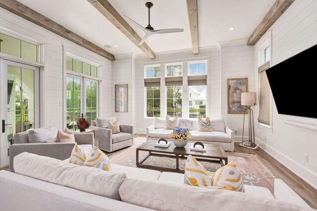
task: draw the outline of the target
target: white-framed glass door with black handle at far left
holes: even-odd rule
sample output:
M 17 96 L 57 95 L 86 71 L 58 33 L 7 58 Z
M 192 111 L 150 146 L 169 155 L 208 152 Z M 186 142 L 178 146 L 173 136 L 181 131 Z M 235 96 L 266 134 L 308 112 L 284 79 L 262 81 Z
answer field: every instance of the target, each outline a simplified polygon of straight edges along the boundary
M 39 67 L 0 58 L 0 167 L 9 164 L 14 134 L 39 127 Z

